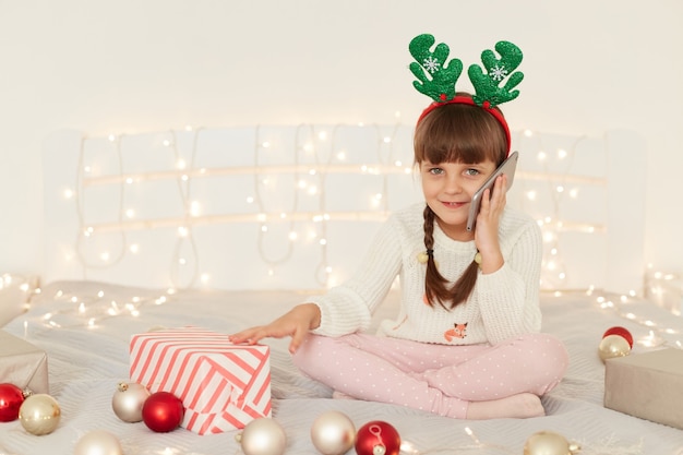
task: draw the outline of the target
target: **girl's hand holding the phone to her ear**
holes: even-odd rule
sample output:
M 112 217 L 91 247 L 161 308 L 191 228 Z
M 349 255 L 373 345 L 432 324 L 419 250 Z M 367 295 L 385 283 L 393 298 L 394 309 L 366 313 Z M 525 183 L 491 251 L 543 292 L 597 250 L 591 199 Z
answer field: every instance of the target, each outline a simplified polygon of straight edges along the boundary
M 482 273 L 493 273 L 503 266 L 504 260 L 498 239 L 498 229 L 506 203 L 505 188 L 507 188 L 507 177 L 503 173 L 495 179 L 493 192 L 484 191 L 479 215 L 477 215 L 475 244 L 481 254 L 479 266 Z

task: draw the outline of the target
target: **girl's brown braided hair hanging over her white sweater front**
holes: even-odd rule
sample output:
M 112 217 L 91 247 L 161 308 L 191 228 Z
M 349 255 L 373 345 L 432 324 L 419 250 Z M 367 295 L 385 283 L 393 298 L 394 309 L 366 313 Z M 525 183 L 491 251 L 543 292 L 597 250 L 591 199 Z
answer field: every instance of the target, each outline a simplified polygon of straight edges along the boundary
M 427 274 L 424 276 L 424 294 L 427 303 L 433 307 L 433 302 L 438 301 L 443 308 L 448 309 L 444 302 L 450 302 L 450 308 L 463 303 L 471 294 L 477 284 L 477 275 L 479 274 L 479 264 L 472 261 L 465 270 L 465 273 L 458 278 L 452 289 L 448 289 L 448 280 L 444 278 L 434 261 L 434 212 L 429 207 L 424 207 L 424 247 L 427 247 Z

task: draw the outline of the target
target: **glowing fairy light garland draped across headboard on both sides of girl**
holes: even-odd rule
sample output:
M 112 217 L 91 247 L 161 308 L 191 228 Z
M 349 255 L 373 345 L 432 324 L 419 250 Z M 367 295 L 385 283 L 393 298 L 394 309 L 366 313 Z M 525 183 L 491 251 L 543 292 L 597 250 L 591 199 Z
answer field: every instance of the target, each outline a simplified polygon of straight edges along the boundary
M 363 151 L 368 157 L 366 163 L 347 163 L 346 151 L 338 143 L 339 131 L 345 128 L 362 128 L 374 134 L 375 149 Z M 199 167 L 196 164 L 197 147 L 200 140 L 206 132 L 205 129 L 188 128 L 183 134 L 192 134 L 191 149 L 183 158 L 179 151 L 178 132 L 169 131 L 167 139 L 163 141 L 164 147 L 172 152 L 176 163 L 175 169 L 159 169 L 156 171 L 124 172 L 122 142 L 125 135 L 110 135 L 109 143 L 113 148 L 113 169 L 109 173 L 98 170 L 101 165 L 88 160 L 85 156 L 87 139 L 83 139 L 79 159 L 77 181 L 75 189 L 67 189 L 64 197 L 74 200 L 79 216 L 79 234 L 75 244 L 75 256 L 87 270 L 106 270 L 118 264 L 128 254 L 137 254 L 143 246 L 129 241 L 129 232 L 152 230 L 157 228 L 177 229 L 177 240 L 170 264 L 170 282 L 179 288 L 193 287 L 197 283 L 207 284 L 211 274 L 202 271 L 202 258 L 197 251 L 194 228 L 203 225 L 227 224 L 253 224 L 257 229 L 256 249 L 259 259 L 267 265 L 267 274 L 274 276 L 276 268 L 291 261 L 292 251 L 299 242 L 316 242 L 319 248 L 319 264 L 314 270 L 315 280 L 322 287 L 331 287 L 338 283 L 334 274 L 334 264 L 329 263 L 327 249 L 327 227 L 329 221 L 339 220 L 373 220 L 381 221 L 388 216 L 390 201 L 392 199 L 387 179 L 390 176 L 405 176 L 406 184 L 415 183 L 412 175 L 411 155 L 404 153 L 396 155 L 394 145 L 400 125 L 396 124 L 386 131 L 386 127 L 314 127 L 300 125 L 296 129 L 293 143 L 290 146 L 278 143 L 269 136 L 262 127 L 256 127 L 253 134 L 252 164 L 244 163 L 239 166 L 214 166 Z M 265 129 L 267 130 L 267 129 Z M 96 139 L 95 139 L 96 140 Z M 552 206 L 538 216 L 538 223 L 543 231 L 544 258 L 543 258 L 543 288 L 562 288 L 566 278 L 565 265 L 560 251 L 559 239 L 563 232 L 604 234 L 606 227 L 600 224 L 577 223 L 562 219 L 561 206 L 564 200 L 576 200 L 579 196 L 578 187 L 594 185 L 603 188 L 607 182 L 603 178 L 573 175 L 572 160 L 583 139 L 576 140 L 567 148 L 559 148 L 555 152 L 553 163 L 566 161 L 564 167 L 558 170 L 549 165 L 550 155 L 546 152 L 543 137 L 530 131 L 517 134 L 515 142 L 517 148 L 525 152 L 525 156 L 532 157 L 532 149 L 538 149 L 536 157 L 538 171 L 519 169 L 516 181 L 532 185 L 532 190 L 524 194 L 525 201 L 520 204 L 528 206 L 535 204 L 539 195 L 550 195 Z M 281 142 L 281 141 L 280 141 Z M 531 146 L 529 146 L 531 144 Z M 405 145 L 405 144 L 404 144 Z M 406 147 L 411 154 L 410 147 Z M 351 151 L 354 152 L 354 151 Z M 326 156 L 326 159 L 325 159 Z M 286 159 L 283 160 L 283 157 Z M 368 194 L 369 204 L 366 208 L 355 211 L 328 209 L 326 187 L 327 180 L 334 175 L 373 176 L 379 180 L 379 191 Z M 223 213 L 202 213 L 202 201 L 193 199 L 192 184 L 202 179 L 221 176 L 247 176 L 251 179 L 253 194 L 248 197 L 247 204 L 254 207 L 250 211 L 236 211 Z M 274 181 L 278 177 L 287 177 L 293 180 L 291 197 L 286 207 L 269 206 L 266 195 L 274 191 L 281 191 Z M 182 206 L 182 215 L 179 217 L 148 217 L 141 213 L 140 207 L 127 206 L 125 195 L 131 185 L 152 181 L 175 181 L 178 187 L 179 203 Z M 524 183 L 522 183 L 524 184 Z M 543 187 L 538 187 L 542 184 Z M 117 191 L 118 215 L 113 220 L 98 223 L 86 221 L 86 205 L 84 203 L 89 189 L 98 187 L 111 187 Z M 514 189 L 515 187 L 513 187 Z M 298 225 L 305 225 L 297 229 Z M 279 252 L 269 251 L 266 240 L 275 234 L 281 232 L 283 225 L 285 238 L 278 240 Z M 274 228 L 278 227 L 274 231 Z M 119 238 L 119 244 L 113 251 L 101 251 L 99 254 L 88 258 L 85 253 L 85 243 L 100 235 L 113 234 Z M 181 278 L 182 276 L 184 278 Z

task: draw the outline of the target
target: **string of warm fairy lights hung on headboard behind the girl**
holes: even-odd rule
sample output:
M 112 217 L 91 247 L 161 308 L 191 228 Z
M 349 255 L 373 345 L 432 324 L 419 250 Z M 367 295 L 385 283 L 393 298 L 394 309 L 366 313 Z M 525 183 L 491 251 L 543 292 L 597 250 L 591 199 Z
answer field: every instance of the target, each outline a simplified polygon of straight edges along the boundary
M 88 270 L 103 270 L 110 268 L 117 265 L 127 254 L 136 254 L 140 250 L 140 246 L 136 243 L 129 244 L 127 232 L 144 229 L 156 229 L 168 226 L 175 226 L 177 228 L 177 241 L 173 246 L 175 254 L 172 255 L 170 263 L 170 282 L 176 287 L 192 287 L 197 284 L 197 278 L 202 283 L 208 280 L 209 275 L 201 273 L 201 258 L 197 251 L 193 227 L 202 224 L 229 224 L 229 223 L 254 223 L 257 229 L 257 254 L 259 259 L 268 264 L 268 274 L 275 273 L 275 267 L 286 263 L 291 259 L 295 244 L 300 241 L 301 236 L 295 229 L 295 224 L 301 220 L 309 220 L 314 223 L 313 231 L 309 234 L 309 238 L 317 239 L 320 249 L 320 264 L 315 270 L 316 280 L 321 286 L 329 287 L 336 284 L 334 275 L 332 274 L 332 266 L 327 260 L 327 225 L 329 221 L 339 219 L 378 219 L 382 220 L 388 215 L 388 201 L 391 192 L 387 190 L 387 176 L 399 173 L 408 176 L 406 182 L 414 179 L 412 166 L 409 157 L 396 157 L 393 154 L 393 144 L 395 143 L 395 135 L 398 131 L 398 125 L 395 125 L 392 131 L 384 134 L 380 131 L 379 127 L 374 128 L 376 134 L 376 149 L 374 156 L 368 153 L 371 164 L 361 165 L 345 165 L 346 153 L 342 148 L 337 148 L 335 143 L 337 139 L 337 131 L 344 128 L 344 125 L 332 127 L 332 133 L 327 129 L 320 131 L 315 130 L 313 125 L 300 125 L 296 130 L 296 136 L 293 140 L 292 149 L 287 149 L 290 154 L 290 163 L 287 165 L 269 166 L 261 163 L 262 157 L 273 148 L 272 142 L 268 139 L 262 137 L 261 128 L 256 127 L 254 130 L 254 151 L 252 154 L 253 166 L 251 168 L 244 167 L 223 167 L 223 168 L 195 168 L 195 156 L 197 153 L 197 144 L 203 129 L 191 130 L 193 131 L 192 147 L 190 151 L 189 159 L 184 159 L 178 147 L 177 132 L 170 131 L 169 139 L 164 140 L 164 145 L 172 151 L 175 159 L 175 169 L 145 173 L 124 173 L 123 172 L 123 158 L 122 158 L 122 143 L 125 139 L 124 135 L 111 135 L 109 142 L 113 147 L 113 155 L 116 157 L 116 166 L 118 169 L 113 169 L 113 172 L 109 172 L 104 176 L 93 175 L 94 165 L 85 163 L 85 145 L 87 140 L 83 139 L 81 153 L 79 158 L 77 181 L 75 190 L 68 190 L 65 194 L 69 197 L 75 200 L 76 212 L 79 217 L 79 234 L 75 244 L 75 253 L 79 262 L 82 264 L 84 273 L 87 274 Z M 368 128 L 368 127 L 366 127 Z M 562 256 L 559 254 L 559 232 L 566 230 L 579 230 L 586 232 L 600 232 L 604 231 L 604 227 L 596 224 L 567 224 L 559 217 L 559 211 L 561 202 L 564 197 L 576 199 L 578 196 L 578 190 L 570 189 L 565 191 L 567 183 L 578 179 L 579 183 L 602 184 L 599 179 L 577 178 L 568 173 L 558 175 L 554 179 L 548 179 L 550 175 L 548 169 L 547 154 L 543 152 L 542 136 L 532 134 L 529 131 L 525 131 L 519 134 L 520 137 L 532 137 L 538 144 L 538 161 L 542 165 L 541 172 L 524 172 L 520 171 L 517 179 L 543 179 L 549 188 L 547 193 L 552 197 L 552 208 L 550 213 L 539 218 L 539 225 L 541 225 L 544 232 L 544 241 L 547 244 L 546 256 L 543 259 L 544 274 L 543 279 L 548 282 L 544 287 L 562 287 L 559 286 L 566 276 L 565 266 L 562 262 Z M 321 159 L 320 149 L 323 144 L 328 143 L 329 149 L 333 153 L 327 153 L 328 158 L 323 161 Z M 520 142 L 520 141 L 518 141 Z M 382 148 L 388 148 L 388 154 L 382 154 Z M 279 152 L 283 153 L 281 151 Z M 303 154 L 308 157 L 309 163 L 302 163 L 300 155 Z M 558 151 L 559 159 L 571 160 L 574 156 L 574 151 Z M 372 204 L 367 208 L 356 212 L 339 212 L 329 211 L 326 207 L 326 180 L 327 177 L 334 173 L 360 173 L 372 175 L 381 179 L 381 190 L 374 194 L 369 195 Z M 207 178 L 212 176 L 229 176 L 238 173 L 250 173 L 253 184 L 253 196 L 248 199 L 248 202 L 256 207 L 255 213 L 228 213 L 228 214 L 212 214 L 202 215 L 202 202 L 192 197 L 192 182 Z M 271 181 L 269 176 L 283 176 L 291 175 L 295 180 L 295 189 L 291 192 L 292 197 L 289 207 L 269 211 L 266 204 L 266 197 L 264 194 L 273 191 L 268 188 Z M 539 176 L 541 176 L 539 178 Z M 165 218 L 147 218 L 144 220 L 136 220 L 139 211 L 134 207 L 128 207 L 125 205 L 127 188 L 145 181 L 170 179 L 175 180 L 178 185 L 179 205 L 183 209 L 182 216 L 179 217 L 165 217 Z M 84 200 L 87 196 L 87 190 L 98 185 L 113 185 L 112 191 L 117 194 L 118 211 L 113 220 L 107 223 L 87 223 L 85 214 Z M 314 197 L 316 206 L 312 211 L 303 211 L 300 206 L 300 193 L 305 192 L 310 197 Z M 525 197 L 529 203 L 534 202 L 537 197 L 538 191 L 529 191 Z M 285 252 L 279 255 L 271 254 L 266 251 L 265 240 L 268 236 L 271 227 L 274 224 L 281 225 L 283 223 L 289 225 L 289 232 L 284 240 Z M 101 251 L 95 258 L 88 258 L 84 253 L 84 243 L 87 240 L 93 239 L 99 234 L 115 232 L 119 236 L 118 246 L 113 249 L 107 249 Z M 117 248 L 118 247 L 118 248 Z M 184 248 L 183 248 L 184 247 Z M 116 250 L 116 251 L 111 251 Z M 188 276 L 184 283 L 181 283 L 180 270 Z M 322 272 L 322 273 L 321 273 Z M 553 274 L 554 276 L 550 276 Z M 543 283 L 541 283 L 543 285 Z

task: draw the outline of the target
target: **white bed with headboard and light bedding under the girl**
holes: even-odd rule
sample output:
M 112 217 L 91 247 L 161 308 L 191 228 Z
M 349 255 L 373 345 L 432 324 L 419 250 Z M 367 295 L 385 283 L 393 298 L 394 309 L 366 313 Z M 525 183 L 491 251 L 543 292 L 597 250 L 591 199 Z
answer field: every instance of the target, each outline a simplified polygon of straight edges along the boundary
M 311 424 L 327 410 L 357 428 L 390 422 L 403 454 L 522 454 L 540 431 L 588 455 L 683 451 L 681 430 L 602 406 L 597 348 L 608 327 L 634 335 L 632 355 L 683 342 L 683 320 L 644 298 L 643 142 L 628 131 L 518 131 L 513 141 L 522 158 L 508 201 L 539 220 L 546 242 L 543 331 L 571 356 L 566 378 L 543 397 L 547 416 L 465 421 L 334 399 L 296 370 L 287 340 L 269 339 L 286 454 L 317 453 Z M 3 330 L 45 349 L 62 418 L 41 436 L 0 423 L 0 454 L 73 453 L 96 429 L 125 454 L 239 454 L 238 431 L 155 433 L 115 416 L 131 336 L 187 325 L 231 333 L 343 282 L 387 214 L 419 201 L 410 147 L 411 128 L 400 124 L 48 137 L 45 270 Z M 374 325 L 396 311 L 397 296 L 390 291 Z

